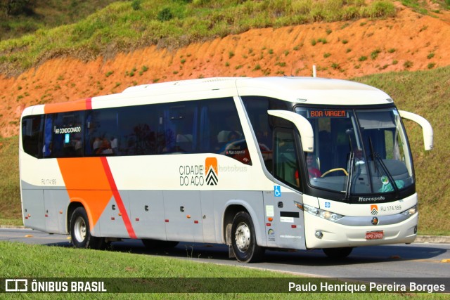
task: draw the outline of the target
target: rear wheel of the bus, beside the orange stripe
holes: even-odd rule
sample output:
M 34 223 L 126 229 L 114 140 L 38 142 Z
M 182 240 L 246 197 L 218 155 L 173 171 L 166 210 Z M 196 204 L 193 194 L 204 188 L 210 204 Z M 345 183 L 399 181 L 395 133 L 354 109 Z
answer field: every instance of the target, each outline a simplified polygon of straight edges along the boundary
M 89 228 L 89 219 L 84 207 L 77 207 L 70 218 L 70 237 L 76 248 L 103 249 L 106 242 L 103 237 L 94 237 Z

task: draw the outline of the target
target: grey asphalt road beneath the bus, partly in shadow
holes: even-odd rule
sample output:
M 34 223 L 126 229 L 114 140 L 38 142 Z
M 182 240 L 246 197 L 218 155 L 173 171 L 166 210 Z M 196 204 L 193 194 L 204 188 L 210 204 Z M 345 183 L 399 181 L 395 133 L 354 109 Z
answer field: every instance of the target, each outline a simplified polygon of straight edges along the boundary
M 0 228 L 0 241 L 71 247 L 67 235 L 37 230 Z M 108 251 L 171 256 L 192 261 L 250 266 L 309 277 L 327 278 L 440 278 L 450 286 L 450 244 L 413 243 L 355 248 L 347 259 L 328 259 L 321 250 L 267 251 L 263 262 L 243 264 L 229 259 L 221 244 L 181 242 L 174 249 L 148 250 L 141 240 L 113 242 Z

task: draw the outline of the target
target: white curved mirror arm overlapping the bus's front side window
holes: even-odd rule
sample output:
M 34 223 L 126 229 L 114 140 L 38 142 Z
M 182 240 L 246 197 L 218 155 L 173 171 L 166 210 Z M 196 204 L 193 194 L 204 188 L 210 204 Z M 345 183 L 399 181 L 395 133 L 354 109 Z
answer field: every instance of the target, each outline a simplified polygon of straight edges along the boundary
M 303 151 L 314 152 L 314 131 L 312 130 L 311 123 L 305 117 L 288 110 L 267 110 L 267 113 L 271 116 L 293 122 L 300 132 Z

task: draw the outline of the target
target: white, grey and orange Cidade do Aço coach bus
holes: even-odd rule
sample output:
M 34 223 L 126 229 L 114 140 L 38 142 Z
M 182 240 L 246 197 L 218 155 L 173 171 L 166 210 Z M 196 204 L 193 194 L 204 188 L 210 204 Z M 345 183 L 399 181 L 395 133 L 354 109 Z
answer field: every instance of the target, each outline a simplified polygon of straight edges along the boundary
M 264 249 L 411 243 L 418 197 L 401 117 L 371 86 L 337 79 L 212 78 L 27 107 L 20 132 L 25 226 L 75 247 Z

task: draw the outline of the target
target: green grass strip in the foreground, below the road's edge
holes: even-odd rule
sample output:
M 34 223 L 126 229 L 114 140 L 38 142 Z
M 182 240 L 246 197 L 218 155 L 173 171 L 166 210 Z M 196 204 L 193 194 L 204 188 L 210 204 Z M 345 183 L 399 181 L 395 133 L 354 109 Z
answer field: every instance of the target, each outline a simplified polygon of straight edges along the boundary
M 250 281 L 254 285 L 252 288 L 262 289 L 262 284 L 274 287 L 280 291 L 280 281 L 277 278 L 292 278 L 301 280 L 300 276 L 290 273 L 278 273 L 269 270 L 257 270 L 255 268 L 245 268 L 243 266 L 223 266 L 214 263 L 201 263 L 198 261 L 173 259 L 155 255 L 130 254 L 121 252 L 96 251 L 91 249 L 74 249 L 67 247 L 52 247 L 42 245 L 23 244 L 20 242 L 0 242 L 0 275 L 2 278 L 30 278 L 63 280 L 70 278 L 76 280 L 82 278 L 89 280 L 105 280 L 108 278 L 135 278 L 136 280 L 117 280 L 119 283 L 114 288 L 127 290 L 151 292 L 153 289 L 161 287 L 164 290 L 172 291 L 179 287 L 167 287 L 164 278 L 190 278 L 183 281 L 181 290 L 199 291 L 208 289 L 211 285 L 217 284 L 218 280 L 213 278 L 236 278 L 236 285 L 242 286 L 239 278 Z M 149 280 L 146 280 L 149 279 Z M 151 278 L 160 278 L 152 281 Z M 122 282 L 121 282 L 122 281 Z M 220 280 L 219 280 L 220 281 Z M 231 280 L 233 281 L 233 280 Z M 320 278 L 309 278 L 307 280 L 316 285 L 320 285 Z M 150 282 L 150 284 L 149 284 Z M 156 283 L 153 283 L 156 282 Z M 167 282 L 170 282 L 169 280 Z M 227 281 L 229 282 L 229 281 Z M 248 281 L 247 281 L 248 282 Z M 254 283 L 253 283 L 254 282 Z M 262 282 L 262 283 L 259 283 Z M 328 280 L 327 280 L 328 282 Z M 336 282 L 342 283 L 342 282 Z M 164 286 L 166 285 L 166 286 Z M 220 286 L 222 289 L 223 286 Z M 226 287 L 227 288 L 227 287 Z M 233 291 L 233 286 L 229 287 Z M 266 290 L 267 287 L 264 286 Z M 227 289 L 228 291 L 228 289 Z M 62 295 L 65 299 L 110 299 L 114 296 L 118 299 L 446 299 L 444 294 L 409 294 L 409 293 L 288 293 L 288 285 L 285 286 L 284 293 L 20 293 L 8 294 L 8 299 L 60 299 Z

